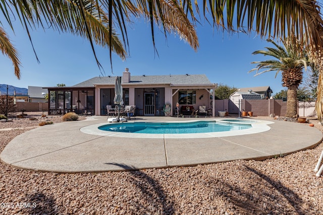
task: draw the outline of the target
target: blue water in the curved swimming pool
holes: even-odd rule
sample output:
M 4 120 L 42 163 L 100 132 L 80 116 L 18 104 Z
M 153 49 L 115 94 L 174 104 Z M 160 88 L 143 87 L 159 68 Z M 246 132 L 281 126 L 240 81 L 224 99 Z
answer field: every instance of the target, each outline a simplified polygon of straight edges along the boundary
M 195 122 L 132 122 L 99 126 L 105 131 L 127 133 L 208 133 L 219 131 L 242 130 L 251 128 L 250 124 L 220 123 L 216 121 Z

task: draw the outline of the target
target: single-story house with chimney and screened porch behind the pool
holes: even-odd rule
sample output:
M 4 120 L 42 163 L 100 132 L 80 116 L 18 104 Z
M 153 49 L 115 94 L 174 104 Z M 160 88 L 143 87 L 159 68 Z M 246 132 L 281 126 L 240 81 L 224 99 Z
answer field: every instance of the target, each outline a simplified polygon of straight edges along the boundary
M 72 87 L 48 89 L 48 114 L 106 115 L 106 105 L 114 105 L 116 77 L 95 77 Z M 136 115 L 164 116 L 169 102 L 171 115 L 176 103 L 198 110 L 200 105 L 213 110 L 210 95 L 216 87 L 205 75 L 131 76 L 128 69 L 122 76 L 124 105 L 135 105 Z M 214 98 L 214 96 L 213 96 Z M 212 103 L 214 104 L 214 102 Z

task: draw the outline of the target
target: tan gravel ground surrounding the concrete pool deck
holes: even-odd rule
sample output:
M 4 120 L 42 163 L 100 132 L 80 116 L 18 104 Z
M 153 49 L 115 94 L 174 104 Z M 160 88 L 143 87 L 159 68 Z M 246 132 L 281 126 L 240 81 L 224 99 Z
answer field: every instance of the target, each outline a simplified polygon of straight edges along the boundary
M 0 129 L 9 123 L 39 121 Z M 29 129 L 0 131 L 0 151 Z M 323 179 L 313 172 L 322 150 L 129 172 L 60 174 L 0 163 L 0 214 L 323 214 Z

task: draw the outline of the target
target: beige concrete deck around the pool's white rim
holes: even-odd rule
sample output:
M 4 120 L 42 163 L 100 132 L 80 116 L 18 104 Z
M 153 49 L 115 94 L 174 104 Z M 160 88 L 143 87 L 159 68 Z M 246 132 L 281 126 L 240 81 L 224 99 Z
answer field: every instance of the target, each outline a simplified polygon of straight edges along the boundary
M 137 117 L 131 121 L 183 121 L 195 118 Z M 221 118 L 198 118 L 218 120 Z M 258 119 L 257 119 L 258 120 Z M 52 172 L 102 172 L 263 160 L 315 147 L 322 132 L 307 123 L 267 120 L 269 130 L 235 136 L 194 134 L 195 138 L 140 138 L 97 135 L 81 130 L 106 116 L 41 126 L 15 137 L 0 155 L 3 162 Z M 203 135 L 204 138 L 201 138 Z

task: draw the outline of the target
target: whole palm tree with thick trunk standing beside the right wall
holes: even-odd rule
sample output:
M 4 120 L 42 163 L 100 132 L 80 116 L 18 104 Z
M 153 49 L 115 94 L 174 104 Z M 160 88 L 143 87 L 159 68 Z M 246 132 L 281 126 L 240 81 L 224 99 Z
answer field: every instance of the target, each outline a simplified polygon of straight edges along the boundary
M 289 40 L 284 41 L 283 46 L 273 40 L 268 40 L 268 42 L 274 44 L 276 48 L 266 47 L 266 50 L 254 51 L 252 54 L 263 54 L 276 59 L 251 62 L 257 65 L 249 73 L 256 71 L 255 76 L 257 76 L 267 71 L 276 71 L 277 76 L 282 71 L 282 86 L 288 89 L 286 116 L 295 118 L 297 116 L 297 88 L 303 80 L 303 68 L 306 69 L 309 64 L 308 57 L 304 49 L 299 51 Z M 261 69 L 265 70 L 259 72 Z

